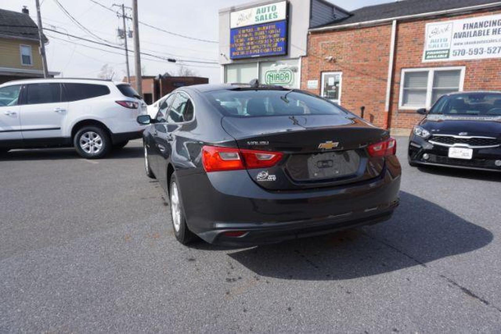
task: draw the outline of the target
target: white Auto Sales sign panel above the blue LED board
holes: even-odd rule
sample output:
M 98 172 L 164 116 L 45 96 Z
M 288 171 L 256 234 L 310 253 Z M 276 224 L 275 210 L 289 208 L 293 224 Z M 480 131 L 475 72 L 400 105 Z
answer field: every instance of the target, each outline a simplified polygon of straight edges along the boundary
M 240 28 L 262 23 L 285 20 L 287 18 L 287 1 L 232 12 L 230 28 Z

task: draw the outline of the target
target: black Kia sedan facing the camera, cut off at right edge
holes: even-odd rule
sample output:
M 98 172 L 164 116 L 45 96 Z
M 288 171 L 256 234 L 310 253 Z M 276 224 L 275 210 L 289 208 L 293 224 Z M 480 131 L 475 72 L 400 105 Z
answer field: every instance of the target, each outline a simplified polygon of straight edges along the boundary
M 442 96 L 414 127 L 411 166 L 436 165 L 501 171 L 501 93 Z

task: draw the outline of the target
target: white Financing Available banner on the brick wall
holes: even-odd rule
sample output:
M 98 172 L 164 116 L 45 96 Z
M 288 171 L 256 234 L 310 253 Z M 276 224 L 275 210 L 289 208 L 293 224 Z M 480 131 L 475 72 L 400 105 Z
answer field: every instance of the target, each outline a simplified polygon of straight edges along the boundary
M 428 23 L 423 62 L 501 58 L 501 15 Z

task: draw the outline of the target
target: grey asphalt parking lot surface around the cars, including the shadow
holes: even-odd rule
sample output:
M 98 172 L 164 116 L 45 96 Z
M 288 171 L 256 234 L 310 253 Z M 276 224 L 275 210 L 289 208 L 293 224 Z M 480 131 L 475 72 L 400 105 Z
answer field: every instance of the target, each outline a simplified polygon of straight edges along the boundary
M 391 221 L 254 248 L 175 241 L 131 142 L 0 159 L 0 332 L 501 330 L 501 174 L 416 169 Z

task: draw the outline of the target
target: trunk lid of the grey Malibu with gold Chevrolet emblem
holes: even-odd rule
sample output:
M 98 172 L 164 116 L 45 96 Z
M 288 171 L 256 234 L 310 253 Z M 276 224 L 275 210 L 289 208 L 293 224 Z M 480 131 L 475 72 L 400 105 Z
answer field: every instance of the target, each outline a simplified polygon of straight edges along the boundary
M 224 130 L 240 149 L 281 152 L 274 167 L 248 169 L 270 190 L 335 186 L 377 177 L 384 158 L 366 147 L 388 137 L 385 130 L 350 115 L 224 117 Z

